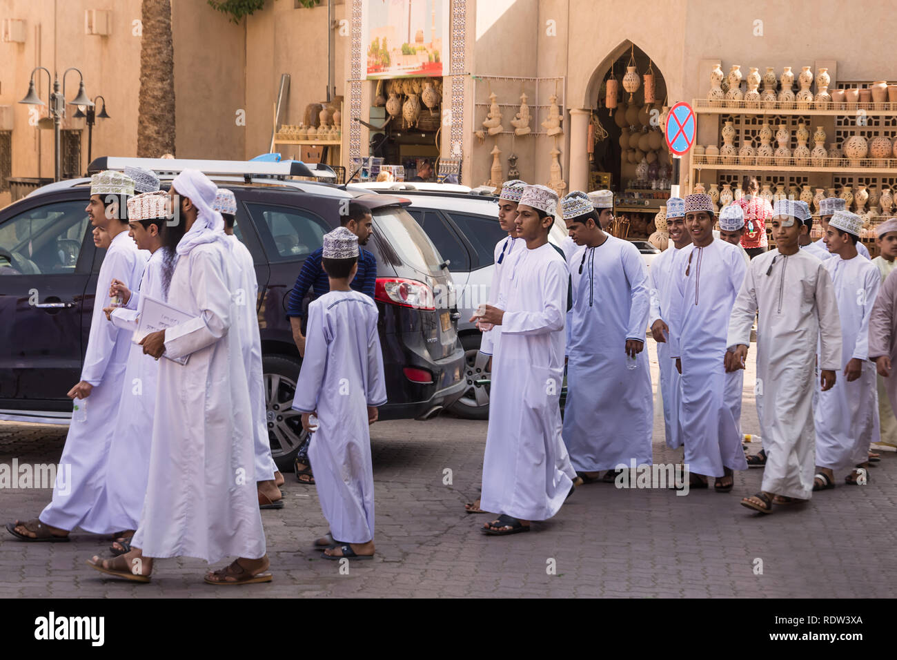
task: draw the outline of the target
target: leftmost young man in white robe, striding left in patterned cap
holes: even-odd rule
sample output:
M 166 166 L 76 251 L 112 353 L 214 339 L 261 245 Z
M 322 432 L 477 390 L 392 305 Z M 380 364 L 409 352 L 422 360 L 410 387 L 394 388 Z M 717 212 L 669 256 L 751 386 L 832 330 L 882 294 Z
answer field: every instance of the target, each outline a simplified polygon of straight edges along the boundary
M 126 200 L 133 195 L 134 181 L 121 172 L 100 172 L 91 178 L 91 201 L 85 210 L 91 224 L 109 233 L 111 242 L 97 277 L 81 381 L 68 392 L 84 407 L 86 419 L 73 418 L 68 429 L 53 501 L 38 518 L 6 525 L 23 541 L 68 541 L 68 532 L 75 527 L 92 533 L 115 531 L 108 527 L 109 503 L 101 496 L 109 445 L 118 431 L 115 419 L 125 386 L 131 333 L 111 325 L 103 307 L 112 280 L 136 288 L 149 257 L 127 234 Z

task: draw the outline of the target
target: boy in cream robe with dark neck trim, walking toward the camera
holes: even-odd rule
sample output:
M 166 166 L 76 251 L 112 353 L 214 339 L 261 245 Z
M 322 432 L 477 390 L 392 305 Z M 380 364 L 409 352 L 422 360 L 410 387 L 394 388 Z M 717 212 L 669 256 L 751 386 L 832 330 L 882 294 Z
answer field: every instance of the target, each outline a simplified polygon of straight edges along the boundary
M 832 278 L 823 262 L 797 244 L 802 231 L 792 208 L 771 220 L 776 249 L 751 261 L 732 309 L 726 369 L 744 369 L 757 318 L 757 396 L 766 467 L 761 491 L 741 505 L 763 514 L 797 504 L 813 492 L 814 369 L 820 346 L 820 383 L 832 388 L 840 369 L 840 320 Z

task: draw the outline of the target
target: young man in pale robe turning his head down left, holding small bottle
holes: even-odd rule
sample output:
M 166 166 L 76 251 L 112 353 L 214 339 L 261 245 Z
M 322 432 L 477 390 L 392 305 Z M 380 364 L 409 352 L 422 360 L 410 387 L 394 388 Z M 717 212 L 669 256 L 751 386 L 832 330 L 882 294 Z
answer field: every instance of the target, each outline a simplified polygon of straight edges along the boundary
M 586 483 L 651 464 L 654 406 L 644 352 L 648 273 L 629 241 L 605 233 L 584 192 L 561 202 L 576 247 L 567 257 L 573 287 L 563 440 Z

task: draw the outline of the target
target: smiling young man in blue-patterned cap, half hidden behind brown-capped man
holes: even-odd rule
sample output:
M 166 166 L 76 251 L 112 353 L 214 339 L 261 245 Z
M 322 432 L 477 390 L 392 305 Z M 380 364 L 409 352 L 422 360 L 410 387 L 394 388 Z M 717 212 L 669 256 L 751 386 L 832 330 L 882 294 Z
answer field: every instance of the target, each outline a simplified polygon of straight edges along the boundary
M 673 292 L 672 266 L 675 253 L 692 243 L 692 237 L 685 231 L 685 200 L 672 197 L 666 200 L 666 226 L 670 241 L 648 271 L 650 287 L 649 327 L 654 340 L 658 342 L 658 366 L 660 367 L 660 396 L 664 406 L 664 428 L 666 446 L 670 449 L 682 446 L 682 431 L 679 428 L 679 406 L 682 394 L 679 372 L 670 357 L 669 320 L 670 295 Z

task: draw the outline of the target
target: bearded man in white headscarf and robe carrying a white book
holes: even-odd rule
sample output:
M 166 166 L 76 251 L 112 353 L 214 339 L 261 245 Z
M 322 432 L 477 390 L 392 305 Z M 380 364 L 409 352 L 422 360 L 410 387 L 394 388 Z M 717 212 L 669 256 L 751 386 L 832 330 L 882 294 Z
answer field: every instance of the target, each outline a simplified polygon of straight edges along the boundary
M 212 585 L 270 582 L 265 532 L 258 511 L 249 387 L 239 328 L 239 268 L 213 211 L 217 188 L 196 170 L 172 182 L 178 242 L 168 304 L 188 321 L 151 332 L 141 344 L 159 363 L 149 479 L 131 550 L 94 557 L 102 573 L 148 582 L 153 559 L 196 557 L 210 564 Z M 184 365 L 174 358 L 188 356 Z M 233 356 L 238 356 L 236 359 Z

